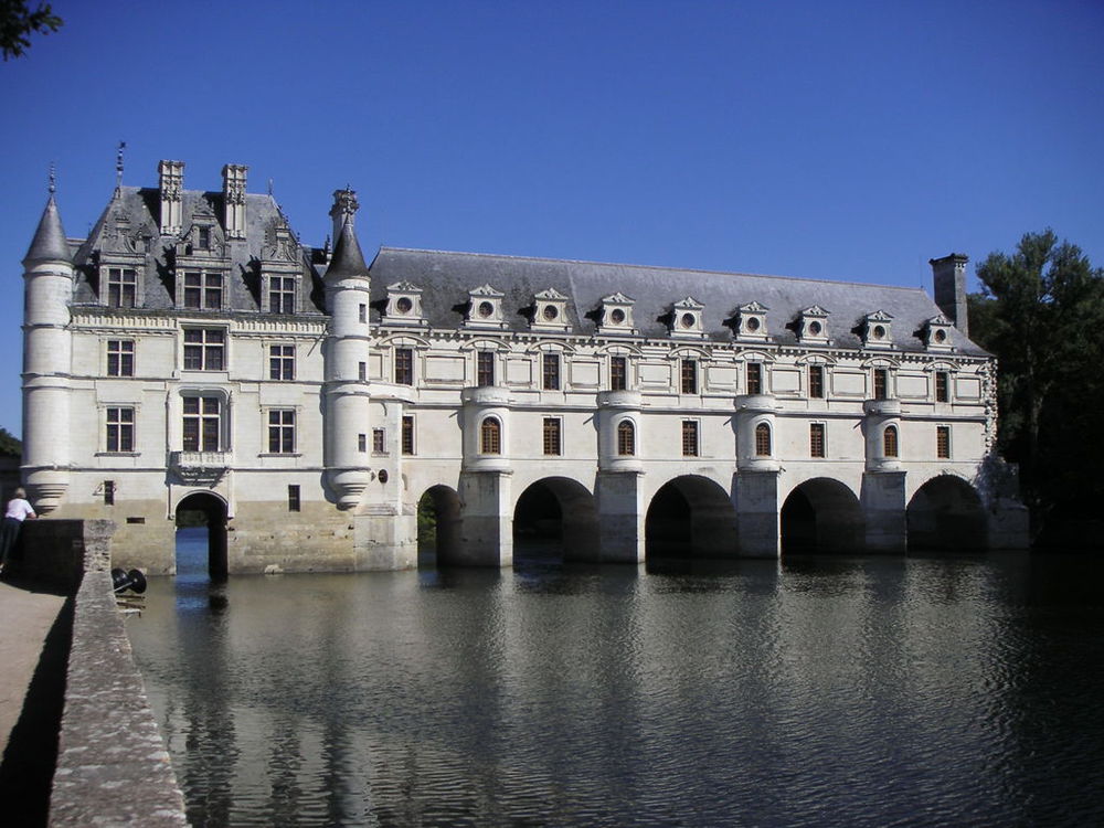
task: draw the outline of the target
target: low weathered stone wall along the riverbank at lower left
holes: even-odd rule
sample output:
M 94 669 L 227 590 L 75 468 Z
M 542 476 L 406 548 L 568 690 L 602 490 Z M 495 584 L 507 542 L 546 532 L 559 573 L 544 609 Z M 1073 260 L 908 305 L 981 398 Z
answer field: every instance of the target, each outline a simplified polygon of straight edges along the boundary
M 73 613 L 49 825 L 187 826 L 116 605 L 114 532 L 110 520 L 38 520 L 20 539 L 20 578 L 67 588 Z

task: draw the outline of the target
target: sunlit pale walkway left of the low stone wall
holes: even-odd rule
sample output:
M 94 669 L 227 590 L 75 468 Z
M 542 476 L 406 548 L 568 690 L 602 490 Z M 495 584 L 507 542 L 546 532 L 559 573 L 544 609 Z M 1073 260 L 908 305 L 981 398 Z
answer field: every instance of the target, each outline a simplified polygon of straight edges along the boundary
M 0 756 L 23 710 L 50 628 L 65 598 L 0 582 Z

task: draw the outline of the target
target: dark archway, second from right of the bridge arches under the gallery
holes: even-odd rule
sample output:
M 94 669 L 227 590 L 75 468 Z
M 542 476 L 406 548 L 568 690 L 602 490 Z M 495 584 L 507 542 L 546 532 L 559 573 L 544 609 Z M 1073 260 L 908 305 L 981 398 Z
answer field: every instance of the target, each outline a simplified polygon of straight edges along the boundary
M 786 498 L 781 514 L 783 554 L 863 551 L 862 508 L 839 480 L 806 480 Z

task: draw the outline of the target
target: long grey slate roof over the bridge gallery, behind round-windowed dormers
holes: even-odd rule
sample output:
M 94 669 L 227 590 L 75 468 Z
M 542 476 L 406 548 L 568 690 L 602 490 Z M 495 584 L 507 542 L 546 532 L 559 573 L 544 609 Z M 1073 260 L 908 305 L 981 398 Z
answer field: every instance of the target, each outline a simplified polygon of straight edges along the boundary
M 602 297 L 617 291 L 636 300 L 633 318 L 640 333 L 661 339 L 669 337 L 662 318 L 687 296 L 704 304 L 707 340 L 714 342 L 732 339 L 724 322 L 751 301 L 768 308 L 769 340 L 778 344 L 797 344 L 795 332 L 786 326 L 805 308 L 819 305 L 829 311 L 828 332 L 836 347 L 860 348 L 862 341 L 852 329 L 868 314 L 884 310 L 893 317 L 894 346 L 923 351 L 924 342 L 916 335 L 941 314 L 920 288 L 476 253 L 381 247 L 370 273 L 373 305 L 386 296 L 386 285 L 411 282 L 424 289 L 422 307 L 429 325 L 446 329 L 461 325 L 464 315 L 457 306 L 466 302 L 469 290 L 484 284 L 506 295 L 507 323 L 517 331 L 529 330 L 522 311 L 532 306 L 538 293 L 550 287 L 559 290 L 570 298 L 572 332 L 583 336 L 593 335 L 596 328 L 586 315 L 601 307 Z M 959 353 L 986 355 L 958 330 L 951 338 Z

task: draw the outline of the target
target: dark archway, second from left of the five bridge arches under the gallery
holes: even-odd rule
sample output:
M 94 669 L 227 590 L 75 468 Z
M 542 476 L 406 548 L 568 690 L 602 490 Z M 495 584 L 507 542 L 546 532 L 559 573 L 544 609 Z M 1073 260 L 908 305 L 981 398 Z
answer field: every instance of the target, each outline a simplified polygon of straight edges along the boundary
M 521 492 L 513 508 L 513 561 L 598 560 L 598 511 L 585 486 L 546 477 Z

